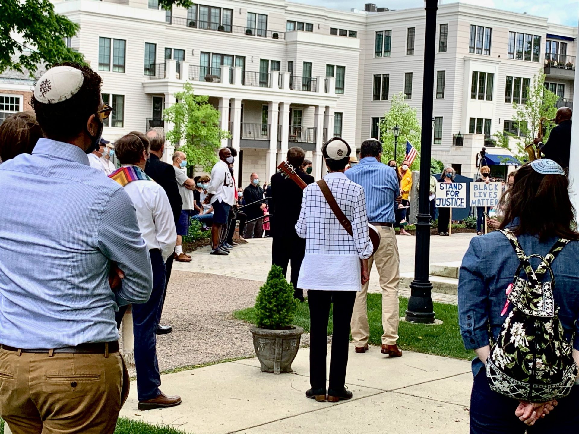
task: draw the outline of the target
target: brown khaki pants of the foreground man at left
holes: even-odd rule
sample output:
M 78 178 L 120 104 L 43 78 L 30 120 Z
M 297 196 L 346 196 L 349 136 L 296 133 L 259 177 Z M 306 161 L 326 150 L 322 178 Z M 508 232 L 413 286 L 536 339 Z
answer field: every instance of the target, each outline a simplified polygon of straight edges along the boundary
M 0 349 L 0 417 L 13 434 L 112 434 L 129 374 L 122 356 Z

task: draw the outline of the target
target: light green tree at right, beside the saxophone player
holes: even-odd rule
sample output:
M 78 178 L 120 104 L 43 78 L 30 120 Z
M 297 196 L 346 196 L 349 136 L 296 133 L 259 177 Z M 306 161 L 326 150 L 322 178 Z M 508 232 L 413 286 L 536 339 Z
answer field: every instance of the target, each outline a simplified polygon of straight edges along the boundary
M 505 133 L 508 137 L 518 139 L 516 142 L 516 154 L 521 161 L 529 159 L 529 156 L 525 152 L 525 146 L 538 136 L 539 120 L 541 117 L 547 117 L 548 119 L 555 117 L 557 112 L 555 104 L 559 98 L 556 94 L 545 88 L 545 74 L 543 72 L 534 75 L 531 85 L 527 87 L 527 89 L 523 89 L 523 92 L 525 90 L 527 93 L 527 101 L 525 104 L 519 105 L 514 103 L 512 105 L 516 110 L 513 120 L 518 124 L 521 136 Z M 546 127 L 543 136 L 543 141 L 546 142 L 553 125 L 543 123 L 543 127 Z M 501 145 L 508 147 L 504 146 L 504 144 Z

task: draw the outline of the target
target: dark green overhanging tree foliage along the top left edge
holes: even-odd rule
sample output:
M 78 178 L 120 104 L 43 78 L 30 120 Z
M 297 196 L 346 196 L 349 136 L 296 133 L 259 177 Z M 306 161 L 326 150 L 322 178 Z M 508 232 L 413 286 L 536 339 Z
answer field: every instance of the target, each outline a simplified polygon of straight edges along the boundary
M 188 8 L 192 2 L 159 0 L 159 4 Z M 49 0 L 2 0 L 0 10 L 0 73 L 6 69 L 28 69 L 34 76 L 38 65 L 84 62 L 83 55 L 65 43 L 65 38 L 76 34 L 79 25 L 54 12 Z

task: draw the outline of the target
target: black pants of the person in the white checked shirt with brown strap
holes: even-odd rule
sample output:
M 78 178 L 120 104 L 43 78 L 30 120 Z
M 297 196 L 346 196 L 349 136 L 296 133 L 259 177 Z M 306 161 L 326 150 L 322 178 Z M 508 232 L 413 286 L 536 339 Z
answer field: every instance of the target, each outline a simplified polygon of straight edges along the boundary
M 350 321 L 356 291 L 310 289 L 307 292 L 307 299 L 310 307 L 310 385 L 313 389 L 325 389 L 329 309 L 333 301 L 334 332 L 329 363 L 329 389 L 339 391 L 346 382 Z

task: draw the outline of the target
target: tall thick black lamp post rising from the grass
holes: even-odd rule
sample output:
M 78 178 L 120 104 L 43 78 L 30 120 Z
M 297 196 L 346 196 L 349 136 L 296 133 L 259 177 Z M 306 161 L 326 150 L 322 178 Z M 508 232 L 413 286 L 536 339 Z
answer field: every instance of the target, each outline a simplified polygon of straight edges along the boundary
M 430 262 L 430 155 L 434 128 L 434 48 L 436 41 L 436 12 L 438 0 L 426 0 L 426 32 L 424 35 L 424 74 L 422 96 L 422 136 L 420 137 L 420 194 L 416 223 L 416 251 L 414 279 L 410 284 L 411 296 L 406 309 L 406 321 L 433 323 L 434 308 L 431 292 L 433 285 L 428 278 Z M 432 126 L 428 130 L 428 121 Z

